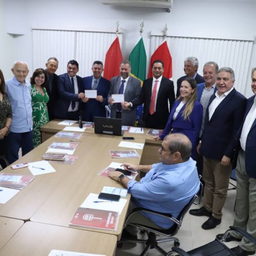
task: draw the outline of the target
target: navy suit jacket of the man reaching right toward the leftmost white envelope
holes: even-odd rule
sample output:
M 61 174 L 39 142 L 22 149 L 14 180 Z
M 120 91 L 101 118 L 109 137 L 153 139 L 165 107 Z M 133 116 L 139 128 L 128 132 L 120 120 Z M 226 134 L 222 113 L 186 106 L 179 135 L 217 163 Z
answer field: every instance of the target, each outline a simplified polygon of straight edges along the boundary
M 82 92 L 82 78 L 76 76 L 78 93 Z M 58 98 L 55 104 L 54 115 L 58 118 L 65 119 L 69 110 L 69 105 L 71 101 L 79 101 L 78 94 L 71 93 L 71 81 L 68 73 L 59 75 L 58 82 Z

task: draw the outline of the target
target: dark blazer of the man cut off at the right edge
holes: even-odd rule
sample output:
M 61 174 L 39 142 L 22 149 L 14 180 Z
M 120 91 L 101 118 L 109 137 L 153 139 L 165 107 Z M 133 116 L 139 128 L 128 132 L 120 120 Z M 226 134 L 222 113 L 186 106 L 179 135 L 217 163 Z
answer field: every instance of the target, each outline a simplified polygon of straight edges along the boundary
M 238 156 L 238 152 L 241 149 L 241 145 L 240 145 L 240 136 L 242 133 L 242 129 L 243 129 L 243 125 L 244 125 L 244 121 L 246 116 L 248 115 L 251 106 L 254 103 L 254 98 L 256 96 L 253 95 L 252 97 L 250 97 L 247 100 L 246 103 L 246 110 L 245 110 L 245 115 L 244 115 L 244 120 L 242 125 L 240 126 L 240 129 L 238 131 L 238 135 L 237 135 L 237 146 L 236 146 L 236 153 L 235 157 L 234 157 L 234 162 L 237 163 L 237 156 Z M 255 153 L 256 153 L 256 119 L 254 120 L 254 122 L 251 125 L 251 129 L 248 133 L 247 139 L 246 139 L 246 143 L 245 143 L 245 171 L 246 174 L 250 177 L 250 178 L 256 178 L 256 157 L 255 157 Z

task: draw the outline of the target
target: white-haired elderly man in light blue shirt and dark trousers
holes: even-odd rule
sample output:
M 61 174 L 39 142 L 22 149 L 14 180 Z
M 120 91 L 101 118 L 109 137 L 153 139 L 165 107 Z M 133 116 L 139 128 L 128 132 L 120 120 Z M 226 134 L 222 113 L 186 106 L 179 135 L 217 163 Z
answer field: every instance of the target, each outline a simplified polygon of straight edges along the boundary
M 5 82 L 12 106 L 12 123 L 7 148 L 9 164 L 18 159 L 20 147 L 23 156 L 33 149 L 31 84 L 25 80 L 29 73 L 28 65 L 25 61 L 16 61 L 11 70 L 14 77 Z

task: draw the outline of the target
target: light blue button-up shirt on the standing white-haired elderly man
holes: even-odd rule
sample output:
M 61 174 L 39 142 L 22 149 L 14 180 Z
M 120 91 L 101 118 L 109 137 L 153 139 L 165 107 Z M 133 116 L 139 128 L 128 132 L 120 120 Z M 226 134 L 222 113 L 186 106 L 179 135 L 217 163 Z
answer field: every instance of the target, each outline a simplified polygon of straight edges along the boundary
M 6 92 L 12 106 L 12 123 L 10 131 L 13 133 L 26 133 L 33 129 L 31 84 L 25 81 L 23 86 L 16 77 L 7 80 Z

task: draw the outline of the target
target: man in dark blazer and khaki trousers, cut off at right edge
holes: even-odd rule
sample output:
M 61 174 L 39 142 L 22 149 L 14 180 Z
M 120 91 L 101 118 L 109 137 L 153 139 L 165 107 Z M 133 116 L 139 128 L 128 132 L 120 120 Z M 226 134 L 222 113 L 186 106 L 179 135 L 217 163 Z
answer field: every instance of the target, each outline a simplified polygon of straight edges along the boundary
M 251 79 L 254 95 L 247 100 L 243 124 L 237 135 L 238 157 L 234 158 L 234 162 L 237 163 L 237 197 L 233 226 L 247 231 L 256 238 L 256 68 L 252 69 Z M 218 234 L 217 237 L 220 239 L 222 236 L 223 234 Z M 254 254 L 255 245 L 242 239 L 241 235 L 235 231 L 231 231 L 225 241 L 241 240 L 240 245 L 231 250 L 236 255 Z

